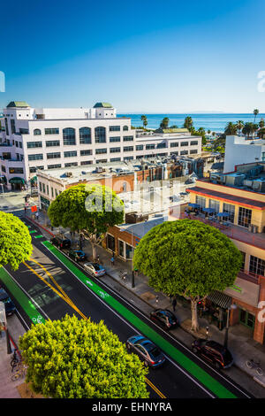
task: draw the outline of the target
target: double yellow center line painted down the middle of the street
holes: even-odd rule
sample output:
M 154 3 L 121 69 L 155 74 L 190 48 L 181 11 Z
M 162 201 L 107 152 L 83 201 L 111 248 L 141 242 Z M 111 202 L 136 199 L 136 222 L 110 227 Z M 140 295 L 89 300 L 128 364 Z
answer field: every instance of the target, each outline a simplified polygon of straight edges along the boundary
M 56 288 L 54 288 L 51 284 L 49 284 L 49 282 L 48 281 L 46 281 L 42 276 L 41 276 L 41 274 L 39 274 L 39 273 L 37 273 L 31 266 L 29 266 L 29 265 L 27 265 L 27 263 L 26 262 L 23 262 L 24 263 L 24 265 L 25 266 L 27 266 L 27 268 L 28 269 L 30 269 L 39 279 L 41 279 L 47 286 L 49 286 L 49 288 L 50 289 L 52 289 L 54 292 L 56 292 L 57 293 L 57 295 L 59 296 L 59 297 L 61 297 L 65 302 L 67 302 L 67 304 L 70 304 L 70 306 L 72 306 L 72 309 L 74 309 L 76 312 L 78 312 L 79 313 L 79 315 L 84 319 L 84 320 L 88 320 L 88 318 L 82 313 L 82 312 L 80 312 L 79 311 L 79 309 L 78 309 L 78 307 L 75 305 L 75 304 L 73 304 L 73 302 L 72 302 L 72 300 L 70 299 L 70 297 L 68 297 L 67 295 L 66 295 L 66 293 L 64 292 L 64 289 L 57 283 L 57 281 L 55 280 L 55 278 L 48 272 L 48 270 L 44 267 L 44 266 L 42 266 L 41 265 L 41 263 L 39 263 L 38 261 L 36 261 L 36 260 L 34 260 L 34 258 L 30 258 L 30 261 L 33 261 L 34 263 L 36 263 L 38 266 L 40 266 L 41 268 L 42 268 L 42 270 L 44 270 L 44 272 L 49 276 L 49 278 L 51 279 L 51 281 L 53 281 L 55 284 L 56 284 L 56 286 L 57 286 L 57 288 L 60 290 L 60 291 L 58 291 Z M 61 293 L 60 293 L 61 292 Z M 166 398 L 164 395 L 163 395 L 163 393 L 159 390 L 159 389 L 157 389 L 156 387 L 155 387 L 155 385 L 146 377 L 146 382 L 147 382 L 147 384 L 150 386 L 150 388 L 151 389 L 153 389 L 154 391 L 155 391 L 155 393 L 159 396 L 159 397 L 162 397 L 162 398 Z

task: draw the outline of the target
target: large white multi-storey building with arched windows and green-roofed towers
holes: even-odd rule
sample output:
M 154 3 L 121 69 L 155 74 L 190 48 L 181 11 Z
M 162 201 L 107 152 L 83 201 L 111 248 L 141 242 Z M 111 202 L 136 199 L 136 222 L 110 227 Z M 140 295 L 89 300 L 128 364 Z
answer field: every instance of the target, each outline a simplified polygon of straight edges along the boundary
M 180 131 L 179 131 L 180 130 Z M 31 108 L 11 102 L 0 135 L 0 175 L 11 188 L 35 177 L 37 169 L 85 166 L 154 156 L 197 155 L 201 137 L 183 129 L 137 135 L 131 119 L 117 118 L 108 103 L 93 108 Z

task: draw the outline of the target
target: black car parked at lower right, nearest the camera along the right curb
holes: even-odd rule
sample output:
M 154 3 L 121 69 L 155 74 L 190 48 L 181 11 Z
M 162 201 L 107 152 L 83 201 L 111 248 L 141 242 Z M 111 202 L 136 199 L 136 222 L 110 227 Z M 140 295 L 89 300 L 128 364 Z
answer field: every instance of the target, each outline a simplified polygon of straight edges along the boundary
M 231 367 L 234 361 L 231 352 L 216 341 L 196 339 L 193 341 L 192 350 L 196 354 L 200 354 L 201 358 L 216 366 L 218 370 Z

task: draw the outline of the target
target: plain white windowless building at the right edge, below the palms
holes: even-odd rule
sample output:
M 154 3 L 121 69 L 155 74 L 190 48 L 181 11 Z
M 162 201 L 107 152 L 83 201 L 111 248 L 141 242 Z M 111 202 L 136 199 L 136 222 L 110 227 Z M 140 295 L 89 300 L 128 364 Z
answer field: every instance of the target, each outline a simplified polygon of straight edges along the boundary
M 265 140 L 227 135 L 223 173 L 233 172 L 236 165 L 265 161 Z

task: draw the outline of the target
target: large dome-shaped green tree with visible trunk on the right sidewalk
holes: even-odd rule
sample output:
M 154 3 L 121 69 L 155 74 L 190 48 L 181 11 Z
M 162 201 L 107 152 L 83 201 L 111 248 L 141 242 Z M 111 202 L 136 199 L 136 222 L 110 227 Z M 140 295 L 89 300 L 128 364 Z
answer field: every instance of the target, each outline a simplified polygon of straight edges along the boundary
M 190 298 L 192 328 L 199 329 L 197 304 L 236 279 L 241 253 L 215 227 L 196 220 L 168 221 L 152 228 L 134 250 L 133 266 L 166 295 Z

